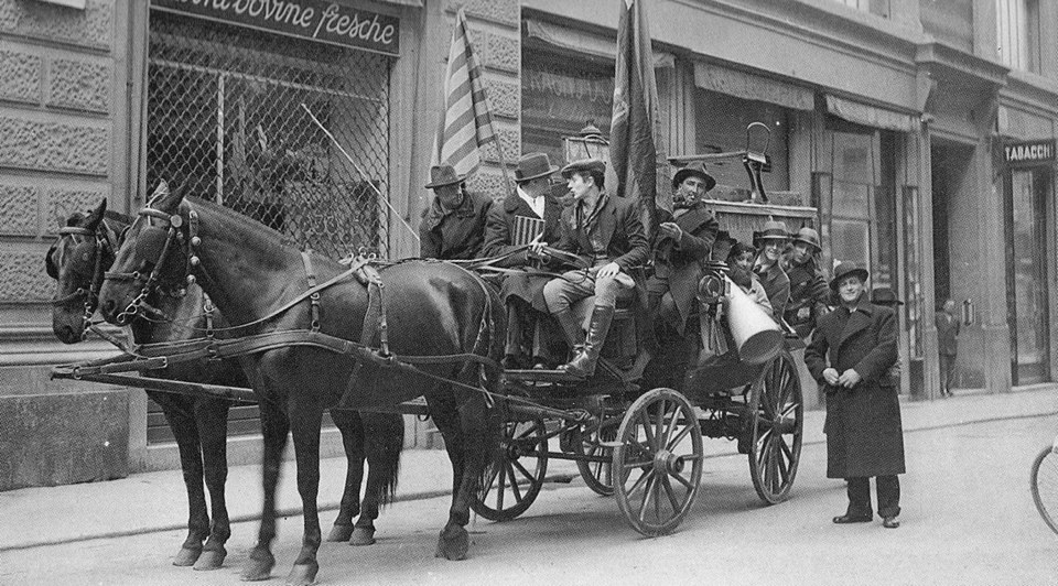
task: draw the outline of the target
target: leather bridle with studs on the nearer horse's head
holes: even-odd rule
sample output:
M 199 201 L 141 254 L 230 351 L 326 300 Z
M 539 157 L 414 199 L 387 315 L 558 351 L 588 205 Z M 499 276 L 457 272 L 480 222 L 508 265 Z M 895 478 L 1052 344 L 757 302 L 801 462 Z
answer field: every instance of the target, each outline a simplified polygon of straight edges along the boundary
M 202 243 L 202 239 L 198 237 L 198 214 L 187 206 L 185 203 L 181 203 L 181 208 L 187 208 L 187 261 L 186 261 L 186 283 L 192 285 L 195 283 L 195 275 L 192 274 L 194 267 L 198 265 L 198 257 L 194 253 L 195 247 Z M 112 272 L 106 271 L 104 273 L 104 281 L 132 281 L 132 282 L 143 282 L 143 286 L 140 289 L 140 293 L 122 310 L 116 317 L 118 323 L 125 323 L 123 319 L 131 319 L 138 315 L 145 316 L 148 314 L 161 315 L 163 318 L 165 315 L 155 307 L 152 307 L 147 303 L 147 297 L 155 289 L 163 286 L 163 283 L 160 283 L 160 275 L 162 267 L 165 265 L 165 261 L 169 259 L 169 253 L 173 247 L 173 242 L 182 243 L 185 239 L 184 232 L 180 228 L 184 225 L 184 217 L 180 215 L 180 209 L 176 214 L 166 214 L 160 209 L 154 209 L 152 207 L 144 207 L 138 213 L 140 216 L 147 218 L 149 223 L 148 226 L 153 227 L 153 220 L 163 221 L 168 225 L 165 234 L 165 243 L 162 245 L 162 251 L 158 256 L 158 260 L 154 262 L 154 267 L 151 269 L 151 273 L 144 279 L 143 273 L 140 271 L 132 272 Z M 177 294 L 176 296 L 182 296 Z

